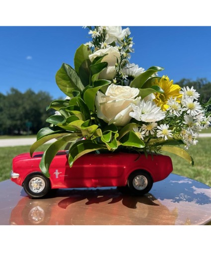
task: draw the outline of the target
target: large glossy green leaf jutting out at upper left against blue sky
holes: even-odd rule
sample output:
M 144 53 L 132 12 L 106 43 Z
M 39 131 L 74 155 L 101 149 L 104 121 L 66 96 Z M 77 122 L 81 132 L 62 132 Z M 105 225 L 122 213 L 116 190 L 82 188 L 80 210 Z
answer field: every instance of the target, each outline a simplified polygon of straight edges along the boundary
M 77 73 L 68 64 L 63 64 L 57 72 L 56 82 L 59 88 L 70 97 L 72 97 L 73 90 L 82 91 L 84 89 Z

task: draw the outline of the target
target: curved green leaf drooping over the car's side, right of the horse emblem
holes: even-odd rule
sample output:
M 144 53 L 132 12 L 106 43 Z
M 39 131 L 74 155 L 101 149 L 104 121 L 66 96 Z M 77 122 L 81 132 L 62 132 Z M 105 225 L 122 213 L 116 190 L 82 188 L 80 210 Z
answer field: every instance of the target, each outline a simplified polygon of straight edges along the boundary
M 69 165 L 72 167 L 74 161 L 79 157 L 99 149 L 105 149 L 104 146 L 94 143 L 92 140 L 82 140 L 74 143 L 69 151 Z

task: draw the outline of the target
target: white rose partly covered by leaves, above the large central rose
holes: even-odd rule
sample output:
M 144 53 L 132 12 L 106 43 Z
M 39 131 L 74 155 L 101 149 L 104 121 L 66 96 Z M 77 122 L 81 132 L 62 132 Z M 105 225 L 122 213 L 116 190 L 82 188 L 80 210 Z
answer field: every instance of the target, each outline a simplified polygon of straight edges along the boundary
M 107 49 L 100 49 L 93 54 L 89 55 L 89 60 L 92 62 L 94 58 L 98 56 L 103 56 L 104 54 L 108 54 L 105 56 L 101 62 L 108 62 L 108 67 L 100 72 L 99 79 L 112 80 L 116 75 L 115 64 L 117 63 L 117 58 L 120 59 L 120 52 L 117 47 L 109 47 Z

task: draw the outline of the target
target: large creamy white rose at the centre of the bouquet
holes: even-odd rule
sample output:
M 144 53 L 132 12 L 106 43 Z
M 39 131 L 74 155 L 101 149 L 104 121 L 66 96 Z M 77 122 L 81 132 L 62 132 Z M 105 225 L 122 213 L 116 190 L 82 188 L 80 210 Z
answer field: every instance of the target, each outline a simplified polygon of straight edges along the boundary
M 95 97 L 97 116 L 106 123 L 124 126 L 131 120 L 129 113 L 132 111 L 131 103 L 137 104 L 139 89 L 130 86 L 109 85 L 105 94 L 98 91 Z M 136 99 L 135 99 L 136 98 Z

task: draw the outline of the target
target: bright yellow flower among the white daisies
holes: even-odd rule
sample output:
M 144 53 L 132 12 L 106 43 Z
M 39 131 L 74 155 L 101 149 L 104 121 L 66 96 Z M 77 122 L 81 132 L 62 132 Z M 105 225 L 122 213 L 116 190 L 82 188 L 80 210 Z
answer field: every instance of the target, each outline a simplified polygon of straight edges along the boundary
M 163 76 L 159 82 L 156 79 L 154 85 L 155 84 L 164 90 L 163 93 L 154 93 L 154 102 L 157 106 L 161 107 L 163 111 L 168 109 L 169 106 L 167 105 L 167 101 L 170 99 L 170 97 L 176 97 L 176 101 L 180 103 L 182 94 L 179 91 L 181 90 L 181 87 L 179 85 L 173 85 L 173 80 L 169 81 L 167 76 Z

